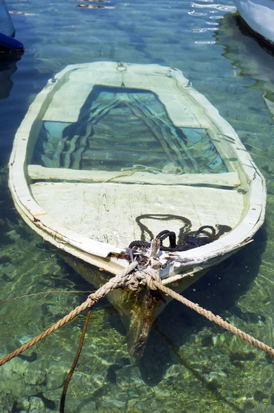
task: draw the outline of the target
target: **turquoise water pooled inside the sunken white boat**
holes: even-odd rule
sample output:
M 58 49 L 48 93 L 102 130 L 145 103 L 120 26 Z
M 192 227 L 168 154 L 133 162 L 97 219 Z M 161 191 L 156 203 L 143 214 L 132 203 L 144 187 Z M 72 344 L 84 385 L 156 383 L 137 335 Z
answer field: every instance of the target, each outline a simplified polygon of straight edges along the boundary
M 43 120 L 32 163 L 117 173 L 136 167 L 227 171 L 207 131 L 174 127 L 156 94 L 102 85 L 93 87 L 76 123 Z

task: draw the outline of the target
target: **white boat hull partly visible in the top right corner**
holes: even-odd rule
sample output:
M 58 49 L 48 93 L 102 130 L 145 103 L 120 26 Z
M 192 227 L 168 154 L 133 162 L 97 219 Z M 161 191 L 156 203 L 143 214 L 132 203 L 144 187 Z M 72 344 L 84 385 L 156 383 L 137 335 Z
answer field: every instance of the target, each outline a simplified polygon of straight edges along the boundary
M 240 17 L 255 34 L 274 44 L 273 0 L 234 0 Z

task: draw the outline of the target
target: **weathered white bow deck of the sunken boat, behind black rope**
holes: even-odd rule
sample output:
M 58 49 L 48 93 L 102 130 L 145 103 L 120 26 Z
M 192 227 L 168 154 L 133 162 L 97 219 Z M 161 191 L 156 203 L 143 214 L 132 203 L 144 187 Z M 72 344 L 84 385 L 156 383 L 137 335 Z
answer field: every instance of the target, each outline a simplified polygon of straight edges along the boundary
M 36 202 L 60 224 L 115 246 L 140 239 L 140 215 L 152 235 L 163 229 L 178 235 L 185 223 L 175 216 L 190 220 L 192 229 L 216 224 L 234 228 L 244 207 L 242 193 L 210 187 L 37 182 L 31 189 Z M 153 218 L 155 214 L 159 218 Z

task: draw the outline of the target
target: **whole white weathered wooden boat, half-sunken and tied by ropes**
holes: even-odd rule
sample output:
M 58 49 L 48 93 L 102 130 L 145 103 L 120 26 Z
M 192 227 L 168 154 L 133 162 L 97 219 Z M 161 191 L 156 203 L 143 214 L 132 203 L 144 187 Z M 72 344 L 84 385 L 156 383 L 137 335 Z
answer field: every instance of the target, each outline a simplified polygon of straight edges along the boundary
M 181 71 L 115 62 L 49 80 L 16 133 L 10 190 L 25 222 L 96 287 L 128 266 L 131 242 L 173 231 L 179 248 L 161 251 L 160 276 L 179 292 L 252 240 L 266 202 L 249 152 Z M 141 354 L 166 297 L 109 300 Z

